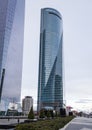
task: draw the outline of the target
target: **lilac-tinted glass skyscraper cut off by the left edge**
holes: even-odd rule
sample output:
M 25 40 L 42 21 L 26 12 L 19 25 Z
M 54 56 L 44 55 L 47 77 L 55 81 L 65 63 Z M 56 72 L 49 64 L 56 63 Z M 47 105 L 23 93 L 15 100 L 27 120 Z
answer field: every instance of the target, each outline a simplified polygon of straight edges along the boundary
M 20 101 L 25 0 L 0 0 L 0 104 Z M 1 108 L 0 107 L 0 108 Z

